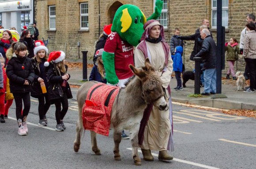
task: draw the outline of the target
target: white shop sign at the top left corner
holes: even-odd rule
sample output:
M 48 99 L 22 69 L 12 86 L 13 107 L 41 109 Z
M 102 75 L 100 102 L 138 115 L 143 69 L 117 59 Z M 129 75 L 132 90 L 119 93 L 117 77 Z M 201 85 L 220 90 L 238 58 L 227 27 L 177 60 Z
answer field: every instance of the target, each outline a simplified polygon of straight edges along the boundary
M 0 2 L 0 12 L 31 10 L 30 0 Z

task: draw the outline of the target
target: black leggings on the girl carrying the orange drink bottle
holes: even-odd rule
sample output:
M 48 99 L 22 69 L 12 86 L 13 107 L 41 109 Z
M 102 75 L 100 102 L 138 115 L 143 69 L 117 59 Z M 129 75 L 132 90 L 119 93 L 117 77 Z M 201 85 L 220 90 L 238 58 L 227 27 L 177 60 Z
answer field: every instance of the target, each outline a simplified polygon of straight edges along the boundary
M 40 95 L 38 97 L 38 102 L 39 102 L 39 105 L 38 105 L 39 118 L 40 120 L 42 120 L 45 114 L 47 113 L 47 111 L 49 110 L 49 107 L 51 106 L 48 99 L 48 93 Z

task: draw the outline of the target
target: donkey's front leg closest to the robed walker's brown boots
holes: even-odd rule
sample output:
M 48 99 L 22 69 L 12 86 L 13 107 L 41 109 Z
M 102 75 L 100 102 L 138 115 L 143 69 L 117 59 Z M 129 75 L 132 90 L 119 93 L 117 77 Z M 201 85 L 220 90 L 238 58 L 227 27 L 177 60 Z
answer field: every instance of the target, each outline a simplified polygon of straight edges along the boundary
M 130 129 L 130 137 L 132 143 L 132 158 L 135 165 L 141 165 L 141 160 L 138 154 L 138 133 L 139 133 L 139 125 L 140 123 L 135 123 L 132 128 Z

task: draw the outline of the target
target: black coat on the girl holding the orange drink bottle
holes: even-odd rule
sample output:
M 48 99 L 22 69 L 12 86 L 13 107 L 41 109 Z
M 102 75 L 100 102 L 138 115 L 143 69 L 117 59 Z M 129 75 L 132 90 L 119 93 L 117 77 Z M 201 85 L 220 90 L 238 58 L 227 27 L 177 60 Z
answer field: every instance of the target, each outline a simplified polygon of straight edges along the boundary
M 34 98 L 38 98 L 42 94 L 42 89 L 41 89 L 41 85 L 38 81 L 38 78 L 41 77 L 44 80 L 46 90 L 48 90 L 49 80 L 48 80 L 45 70 L 40 69 L 40 64 L 42 67 L 44 67 L 43 64 L 45 62 L 45 59 L 41 59 L 41 61 L 42 61 L 41 63 L 38 63 L 37 59 L 35 59 L 35 58 L 32 58 L 31 61 L 32 61 L 32 66 L 33 66 L 34 73 L 35 73 L 35 78 L 34 78 L 33 83 L 31 84 L 32 91 L 31 91 L 30 95 Z

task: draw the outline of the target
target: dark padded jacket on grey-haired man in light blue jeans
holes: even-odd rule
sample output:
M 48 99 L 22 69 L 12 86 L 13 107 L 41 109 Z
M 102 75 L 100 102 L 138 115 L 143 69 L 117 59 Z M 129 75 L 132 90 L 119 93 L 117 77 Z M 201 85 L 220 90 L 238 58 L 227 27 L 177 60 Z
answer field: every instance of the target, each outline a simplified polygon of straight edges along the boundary
M 216 68 L 217 64 L 217 46 L 211 35 L 207 36 L 203 40 L 202 49 L 195 55 L 195 57 L 202 57 L 203 69 Z

